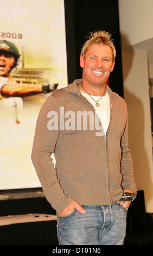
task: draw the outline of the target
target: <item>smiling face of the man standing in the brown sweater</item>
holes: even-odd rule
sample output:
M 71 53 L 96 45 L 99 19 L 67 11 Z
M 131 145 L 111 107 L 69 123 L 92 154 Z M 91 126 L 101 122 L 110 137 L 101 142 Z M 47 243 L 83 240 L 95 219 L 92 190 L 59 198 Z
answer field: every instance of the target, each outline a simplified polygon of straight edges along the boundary
M 80 56 L 80 66 L 83 68 L 82 81 L 88 86 L 105 86 L 114 68 L 112 49 L 109 45 L 91 45 L 85 58 Z

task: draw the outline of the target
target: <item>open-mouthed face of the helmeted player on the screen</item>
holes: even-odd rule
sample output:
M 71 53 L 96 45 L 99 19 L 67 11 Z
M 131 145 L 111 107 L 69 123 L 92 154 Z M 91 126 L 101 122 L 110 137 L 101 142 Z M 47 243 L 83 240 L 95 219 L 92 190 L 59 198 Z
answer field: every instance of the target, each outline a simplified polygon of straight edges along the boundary
M 9 52 L 0 52 L 0 76 L 7 77 L 14 63 L 15 59 Z

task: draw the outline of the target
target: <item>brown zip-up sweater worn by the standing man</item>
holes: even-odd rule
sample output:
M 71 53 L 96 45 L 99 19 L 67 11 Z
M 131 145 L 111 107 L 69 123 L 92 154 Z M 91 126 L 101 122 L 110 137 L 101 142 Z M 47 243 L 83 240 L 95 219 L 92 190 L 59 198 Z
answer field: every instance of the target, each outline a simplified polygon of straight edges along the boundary
M 71 199 L 80 205 L 116 203 L 123 190 L 137 191 L 128 146 L 127 107 L 124 99 L 106 86 L 111 117 L 107 133 L 78 123 L 78 113 L 96 114 L 81 95 L 75 80 L 55 90 L 37 119 L 31 159 L 48 202 L 60 212 Z M 75 118 L 75 119 L 74 119 Z M 75 120 L 75 121 L 74 121 Z M 80 121 L 80 120 L 79 120 Z M 85 121 L 85 120 L 84 120 Z M 54 153 L 56 166 L 50 155 Z

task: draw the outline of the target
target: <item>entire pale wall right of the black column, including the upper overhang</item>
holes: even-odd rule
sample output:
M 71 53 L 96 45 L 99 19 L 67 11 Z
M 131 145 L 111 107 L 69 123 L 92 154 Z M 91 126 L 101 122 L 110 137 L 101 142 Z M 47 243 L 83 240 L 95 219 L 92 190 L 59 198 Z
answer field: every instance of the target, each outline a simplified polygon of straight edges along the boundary
M 118 2 L 124 97 L 129 114 L 129 147 L 138 190 L 144 190 L 146 211 L 153 212 L 149 95 L 149 75 L 152 74 L 152 64 L 148 63 L 148 51 L 147 47 L 144 47 L 145 41 L 148 42 L 153 38 L 153 1 L 119 0 Z M 138 44 L 139 47 L 137 47 Z

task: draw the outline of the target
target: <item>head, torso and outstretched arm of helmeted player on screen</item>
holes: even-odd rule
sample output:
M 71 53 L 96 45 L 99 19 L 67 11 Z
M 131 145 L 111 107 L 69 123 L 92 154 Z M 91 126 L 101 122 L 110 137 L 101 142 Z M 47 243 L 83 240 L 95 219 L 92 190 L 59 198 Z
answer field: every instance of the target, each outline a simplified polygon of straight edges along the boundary
M 40 93 L 49 93 L 49 85 L 17 83 L 11 77 L 11 71 L 18 64 L 20 54 L 10 41 L 0 40 L 0 93 L 3 97 L 22 97 Z

